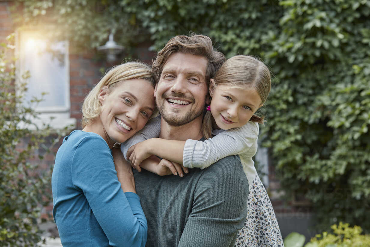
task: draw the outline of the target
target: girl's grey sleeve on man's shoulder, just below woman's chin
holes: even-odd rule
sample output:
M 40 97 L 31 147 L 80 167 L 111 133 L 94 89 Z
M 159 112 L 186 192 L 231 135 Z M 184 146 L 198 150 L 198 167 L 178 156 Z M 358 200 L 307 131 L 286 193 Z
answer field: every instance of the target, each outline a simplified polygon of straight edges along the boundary
M 149 121 L 141 131 L 138 131 L 127 141 L 121 143 L 121 152 L 125 159 L 128 161 L 127 150 L 129 149 L 129 147 L 139 142 L 145 141 L 149 138 L 158 137 L 160 132 L 161 132 L 161 116 L 149 119 Z

